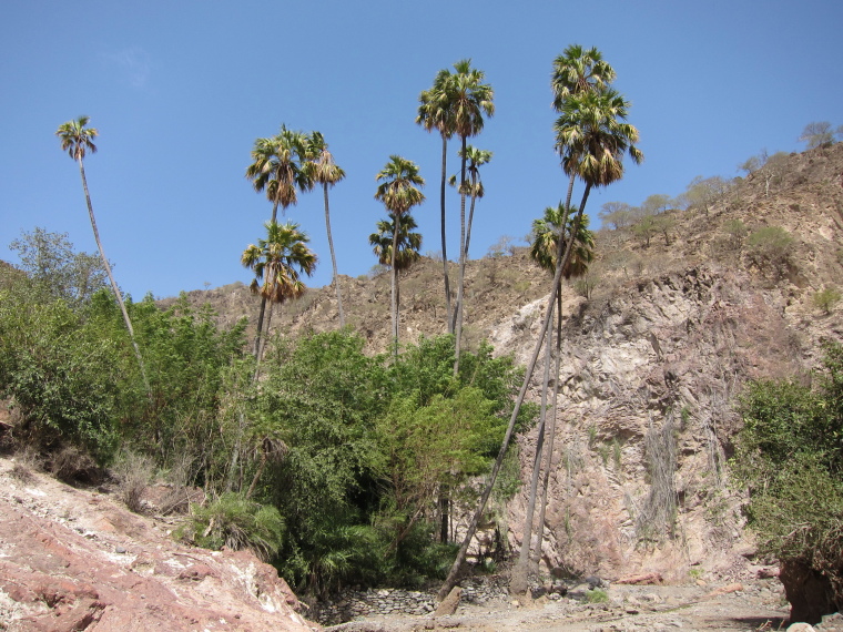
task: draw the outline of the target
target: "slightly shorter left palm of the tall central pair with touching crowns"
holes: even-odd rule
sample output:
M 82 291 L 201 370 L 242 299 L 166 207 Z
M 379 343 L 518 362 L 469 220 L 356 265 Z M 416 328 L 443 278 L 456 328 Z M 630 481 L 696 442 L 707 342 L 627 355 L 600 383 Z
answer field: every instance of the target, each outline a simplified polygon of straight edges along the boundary
M 439 184 L 439 207 L 441 214 L 441 263 L 445 278 L 445 308 L 448 333 L 454 333 L 450 305 L 450 281 L 448 277 L 448 249 L 445 232 L 445 177 L 448 162 L 448 140 L 454 135 L 454 75 L 448 69 L 436 73 L 429 90 L 418 95 L 416 123 L 428 132 L 436 130 L 441 136 L 441 181 Z

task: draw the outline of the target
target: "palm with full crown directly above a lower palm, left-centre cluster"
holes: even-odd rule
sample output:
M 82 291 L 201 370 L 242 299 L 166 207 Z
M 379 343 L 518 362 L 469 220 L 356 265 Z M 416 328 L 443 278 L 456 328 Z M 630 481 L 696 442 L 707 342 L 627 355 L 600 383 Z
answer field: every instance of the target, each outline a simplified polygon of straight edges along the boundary
M 303 167 L 306 161 L 306 136 L 302 132 L 287 130 L 286 125 L 270 139 L 257 139 L 252 149 L 252 164 L 246 167 L 246 177 L 258 193 L 265 191 L 272 202 L 272 222 L 277 217 L 278 206 L 282 214 L 288 206 L 298 202 L 298 191 L 313 188 L 313 179 Z M 261 348 L 266 297 L 261 298 L 261 312 L 257 317 L 254 354 Z

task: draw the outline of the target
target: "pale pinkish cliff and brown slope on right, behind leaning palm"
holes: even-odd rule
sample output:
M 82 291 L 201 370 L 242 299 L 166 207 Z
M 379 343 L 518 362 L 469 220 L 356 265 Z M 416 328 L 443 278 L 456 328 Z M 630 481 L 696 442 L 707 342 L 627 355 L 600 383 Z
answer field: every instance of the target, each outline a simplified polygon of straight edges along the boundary
M 728 466 L 737 398 L 746 380 L 798 375 L 815 366 L 821 340 L 843 339 L 839 314 L 811 300 L 843 278 L 841 156 L 841 147 L 791 156 L 775 196 L 741 183 L 709 214 L 680 218 L 672 244 L 651 246 L 641 272 L 607 275 L 589 302 L 565 295 L 547 567 L 674 581 L 692 569 L 745 569 L 752 544 Z M 749 231 L 789 231 L 786 261 L 759 264 L 728 242 L 718 227 L 735 218 Z M 615 255 L 624 248 L 636 251 L 616 242 Z M 526 361 L 541 310 L 538 300 L 502 322 L 492 343 Z M 525 480 L 536 438 L 520 440 Z M 509 508 L 514 544 L 526 495 Z

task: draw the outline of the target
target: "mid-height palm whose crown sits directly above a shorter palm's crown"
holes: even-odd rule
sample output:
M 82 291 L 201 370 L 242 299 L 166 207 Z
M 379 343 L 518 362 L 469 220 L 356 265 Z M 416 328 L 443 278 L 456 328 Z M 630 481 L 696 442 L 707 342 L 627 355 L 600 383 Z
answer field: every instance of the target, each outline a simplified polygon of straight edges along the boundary
M 418 174 L 418 165 L 413 161 L 399 155 L 389 156 L 389 162 L 375 176 L 380 184 L 377 186 L 375 200 L 379 200 L 386 206 L 387 213 L 398 222 L 400 227 L 402 215 L 408 213 L 413 206 L 424 202 L 424 194 L 417 188 L 424 186 L 425 180 Z M 393 344 L 395 353 L 398 353 L 398 231 L 393 231 L 392 248 L 392 314 L 393 314 Z

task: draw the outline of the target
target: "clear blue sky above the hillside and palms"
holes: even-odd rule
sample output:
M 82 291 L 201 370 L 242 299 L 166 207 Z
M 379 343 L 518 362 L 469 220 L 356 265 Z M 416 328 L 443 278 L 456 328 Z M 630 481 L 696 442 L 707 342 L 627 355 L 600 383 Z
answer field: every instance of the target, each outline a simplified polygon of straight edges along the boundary
M 80 114 L 100 131 L 85 160 L 100 234 L 136 300 L 251 281 L 240 255 L 271 205 L 244 170 L 254 140 L 282 123 L 321 131 L 347 173 L 331 197 L 341 273 L 375 263 L 367 237 L 385 217 L 375 174 L 390 154 L 420 165 L 422 249 L 439 251 L 441 145 L 414 121 L 418 93 L 464 58 L 486 72 L 496 102 L 471 141 L 495 153 L 471 241 L 479 257 L 504 234 L 526 235 L 563 196 L 549 77 L 568 44 L 597 47 L 615 67 L 646 154 L 592 195 L 596 217 L 608 201 L 634 205 L 677 195 L 697 175 L 737 175 L 764 147 L 799 151 L 811 121 L 842 124 L 841 24 L 840 0 L 9 0 L 0 258 L 14 263 L 8 244 L 35 226 L 95 252 L 79 171 L 53 135 Z M 454 192 L 448 205 L 456 255 Z M 301 196 L 286 216 L 321 258 L 309 285 L 329 283 L 322 196 Z

